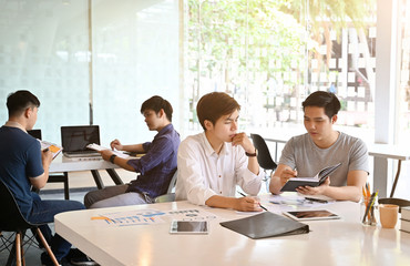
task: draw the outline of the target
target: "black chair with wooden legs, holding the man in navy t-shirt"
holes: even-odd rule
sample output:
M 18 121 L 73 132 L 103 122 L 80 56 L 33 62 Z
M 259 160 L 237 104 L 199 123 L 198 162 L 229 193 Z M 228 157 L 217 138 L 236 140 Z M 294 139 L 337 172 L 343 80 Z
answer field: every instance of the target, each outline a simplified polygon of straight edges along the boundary
M 25 221 L 24 216 L 20 212 L 19 205 L 17 204 L 13 194 L 10 192 L 9 187 L 1 180 L 0 180 L 0 213 L 1 213 L 0 232 L 12 232 L 16 234 L 14 241 L 12 241 L 13 235 L 7 239 L 4 239 L 6 238 L 4 236 L 1 236 L 3 237 L 2 242 L 4 244 L 4 247 L 2 249 L 8 249 L 10 252 L 7 265 L 12 265 L 14 260 L 17 266 L 20 266 L 21 263 L 25 265 L 23 246 L 29 245 L 30 247 L 31 245 L 34 245 L 34 243 L 37 243 L 35 235 L 31 237 L 25 237 L 27 229 L 32 229 L 32 232 L 37 234 L 43 247 L 47 249 L 53 264 L 59 265 L 43 234 L 41 234 L 39 226 L 42 224 L 31 224 L 28 221 Z M 24 238 L 27 239 L 24 241 Z

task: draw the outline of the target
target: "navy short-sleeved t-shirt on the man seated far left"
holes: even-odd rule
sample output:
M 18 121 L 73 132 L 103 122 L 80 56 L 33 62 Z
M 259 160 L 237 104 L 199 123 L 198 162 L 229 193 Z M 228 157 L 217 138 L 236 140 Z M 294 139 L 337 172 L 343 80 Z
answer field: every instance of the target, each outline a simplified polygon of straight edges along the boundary
M 29 177 L 43 172 L 40 143 L 20 129 L 1 126 L 0 178 L 13 193 L 24 217 L 28 217 L 32 207 Z

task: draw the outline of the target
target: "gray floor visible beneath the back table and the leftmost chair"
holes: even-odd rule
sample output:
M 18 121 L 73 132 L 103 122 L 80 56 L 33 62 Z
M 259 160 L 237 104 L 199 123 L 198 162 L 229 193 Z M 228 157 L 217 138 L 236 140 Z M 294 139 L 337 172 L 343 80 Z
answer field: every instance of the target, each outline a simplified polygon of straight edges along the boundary
M 90 188 L 70 190 L 70 200 L 79 201 L 79 202 L 82 203 L 85 193 L 90 190 L 95 190 L 95 188 L 90 187 Z M 48 192 L 44 192 L 44 193 L 40 193 L 40 196 L 43 200 L 63 200 L 64 198 L 64 194 L 63 194 L 62 190 L 54 190 L 54 191 L 48 191 Z M 52 229 L 53 229 L 52 224 L 50 224 L 50 227 L 52 227 Z M 31 232 L 29 232 L 29 234 L 31 235 Z M 3 235 L 9 236 L 9 233 L 3 233 Z M 2 242 L 0 241 L 0 249 L 1 249 L 1 246 L 2 246 Z M 25 265 L 28 265 L 28 266 L 41 265 L 41 262 L 40 262 L 40 254 L 42 253 L 41 249 L 38 249 L 34 246 L 31 246 L 25 252 L 27 252 L 25 255 L 24 255 Z M 9 256 L 8 250 L 2 250 L 0 253 L 0 265 L 6 265 L 8 256 Z

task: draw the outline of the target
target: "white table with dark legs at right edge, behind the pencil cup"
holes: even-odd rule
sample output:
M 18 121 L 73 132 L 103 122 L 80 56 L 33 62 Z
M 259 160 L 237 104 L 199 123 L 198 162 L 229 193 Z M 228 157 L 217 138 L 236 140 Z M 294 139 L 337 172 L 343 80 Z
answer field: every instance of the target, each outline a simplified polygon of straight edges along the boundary
M 397 183 L 399 181 L 401 171 L 401 161 L 410 160 L 410 151 L 403 146 L 390 145 L 390 144 L 372 144 L 369 146 L 369 155 L 383 158 L 386 162 L 377 162 L 375 160 L 375 187 L 376 188 L 387 188 L 387 160 L 393 158 L 398 160 L 397 173 L 391 187 L 390 197 L 393 197 Z M 382 164 L 382 165 L 380 165 Z M 385 194 L 385 191 L 381 195 Z

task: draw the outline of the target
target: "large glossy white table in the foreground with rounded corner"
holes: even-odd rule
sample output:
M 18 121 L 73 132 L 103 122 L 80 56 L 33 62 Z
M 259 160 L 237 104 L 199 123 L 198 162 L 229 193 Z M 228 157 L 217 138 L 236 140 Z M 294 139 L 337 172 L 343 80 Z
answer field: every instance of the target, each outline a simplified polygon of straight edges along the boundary
M 274 204 L 264 203 L 271 209 Z M 275 205 L 277 206 L 277 205 Z M 254 241 L 219 225 L 245 215 L 230 209 L 204 208 L 218 218 L 211 221 L 208 235 L 170 235 L 170 223 L 123 227 L 99 227 L 92 216 L 113 211 L 160 211 L 203 207 L 187 202 L 58 214 L 55 231 L 102 266 L 116 265 L 410 265 L 410 234 L 398 229 L 363 227 L 359 204 L 325 205 L 340 221 L 309 222 L 304 235 Z

